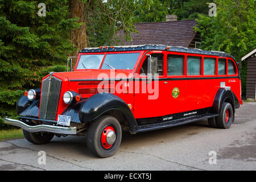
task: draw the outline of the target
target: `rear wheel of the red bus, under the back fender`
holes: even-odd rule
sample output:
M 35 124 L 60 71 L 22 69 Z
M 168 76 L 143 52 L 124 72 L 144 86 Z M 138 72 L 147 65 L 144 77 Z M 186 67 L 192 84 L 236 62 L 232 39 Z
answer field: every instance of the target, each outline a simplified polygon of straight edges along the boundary
M 234 111 L 231 104 L 224 102 L 221 113 L 216 118 L 217 127 L 220 129 L 229 129 L 234 121 Z

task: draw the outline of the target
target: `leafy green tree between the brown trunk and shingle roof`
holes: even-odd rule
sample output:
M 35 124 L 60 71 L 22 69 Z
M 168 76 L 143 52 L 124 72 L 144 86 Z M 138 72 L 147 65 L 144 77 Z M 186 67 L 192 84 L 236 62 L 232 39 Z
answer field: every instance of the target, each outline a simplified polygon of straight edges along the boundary
M 97 0 L 85 2 L 86 35 L 88 46 L 110 45 L 118 30 L 123 29 L 126 39 L 136 32 L 134 22 L 137 10 L 148 7 L 153 0 Z

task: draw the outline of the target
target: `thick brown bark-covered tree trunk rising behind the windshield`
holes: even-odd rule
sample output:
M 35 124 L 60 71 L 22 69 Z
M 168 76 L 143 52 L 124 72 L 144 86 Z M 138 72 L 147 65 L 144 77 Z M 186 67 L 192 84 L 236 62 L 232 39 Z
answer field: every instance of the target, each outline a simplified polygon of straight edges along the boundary
M 70 56 L 77 56 L 81 49 L 87 47 L 84 3 L 81 0 L 69 0 L 69 11 L 70 18 L 79 17 L 79 23 L 82 23 L 79 28 L 71 31 L 71 44 L 75 44 L 77 50 Z

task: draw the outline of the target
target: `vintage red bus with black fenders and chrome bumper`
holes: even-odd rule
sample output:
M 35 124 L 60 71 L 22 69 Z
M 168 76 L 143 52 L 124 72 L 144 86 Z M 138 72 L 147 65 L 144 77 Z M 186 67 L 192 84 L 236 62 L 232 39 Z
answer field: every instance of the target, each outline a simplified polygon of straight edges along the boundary
M 208 119 L 228 129 L 240 107 L 241 76 L 233 56 L 162 45 L 82 49 L 71 72 L 49 73 L 42 88 L 17 103 L 19 120 L 32 143 L 54 135 L 86 135 L 101 158 L 115 154 L 122 130 L 135 134 Z

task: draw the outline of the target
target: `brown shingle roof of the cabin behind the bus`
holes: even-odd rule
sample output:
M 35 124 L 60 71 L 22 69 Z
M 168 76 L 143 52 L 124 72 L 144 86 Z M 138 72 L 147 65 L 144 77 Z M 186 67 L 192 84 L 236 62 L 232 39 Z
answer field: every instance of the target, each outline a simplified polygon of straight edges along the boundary
M 188 47 L 196 33 L 195 20 L 178 20 L 174 22 L 135 23 L 138 34 L 131 33 L 132 42 L 125 40 L 125 33 L 120 30 L 115 35 L 117 45 L 163 44 Z

